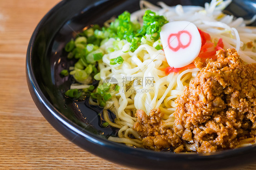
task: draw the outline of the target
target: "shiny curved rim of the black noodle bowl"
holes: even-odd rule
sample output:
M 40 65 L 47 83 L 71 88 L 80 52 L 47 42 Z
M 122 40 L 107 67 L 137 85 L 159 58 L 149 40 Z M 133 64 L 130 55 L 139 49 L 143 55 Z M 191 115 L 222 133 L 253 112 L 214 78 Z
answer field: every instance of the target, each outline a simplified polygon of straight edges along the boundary
M 90 131 L 83 129 L 81 126 L 75 124 L 71 120 L 67 119 L 66 116 L 61 114 L 61 112 L 58 111 L 51 104 L 51 102 L 49 100 L 47 100 L 46 96 L 41 91 L 39 85 L 36 82 L 36 77 L 34 75 L 34 71 L 32 68 L 31 59 L 32 59 L 32 50 L 34 48 L 35 39 L 39 33 L 40 27 L 49 19 L 49 17 L 56 11 L 56 9 L 65 5 L 68 1 L 70 1 L 70 0 L 61 0 L 54 7 L 52 7 L 51 10 L 46 13 L 46 15 L 44 15 L 44 17 L 40 20 L 40 22 L 36 26 L 35 30 L 33 31 L 33 34 L 31 35 L 31 39 L 29 41 L 27 53 L 26 53 L 27 83 L 33 87 L 33 91 L 36 93 L 36 97 L 38 98 L 38 100 L 41 101 L 41 103 L 43 103 L 43 105 L 46 106 L 47 110 L 49 110 L 49 114 L 53 115 L 57 120 L 59 120 L 61 123 L 63 123 L 63 125 L 65 125 L 70 130 L 72 130 L 75 134 L 81 135 L 82 137 L 86 138 L 87 140 L 89 140 L 90 142 L 92 142 L 96 145 L 104 145 L 113 150 L 123 150 L 123 151 L 131 153 L 133 155 L 148 155 L 148 156 L 152 157 L 154 160 L 156 160 L 157 158 L 174 159 L 174 160 L 222 159 L 222 158 L 231 157 L 234 155 L 240 155 L 240 154 L 242 155 L 250 150 L 256 149 L 256 145 L 249 145 L 249 146 L 236 148 L 236 149 L 220 150 L 220 151 L 210 153 L 210 154 L 209 153 L 184 154 L 184 153 L 174 153 L 174 152 L 157 152 L 157 151 L 153 151 L 153 150 L 146 150 L 143 148 L 133 148 L 133 147 L 129 147 L 129 146 L 126 146 L 123 144 L 119 144 L 116 142 L 112 142 L 112 141 L 100 138 L 100 137 L 94 135 L 93 133 L 91 133 Z M 103 2 L 106 2 L 106 1 L 109 1 L 109 0 L 103 0 Z M 63 135 L 63 134 L 61 134 L 61 135 Z M 97 156 L 100 156 L 100 155 L 97 155 Z

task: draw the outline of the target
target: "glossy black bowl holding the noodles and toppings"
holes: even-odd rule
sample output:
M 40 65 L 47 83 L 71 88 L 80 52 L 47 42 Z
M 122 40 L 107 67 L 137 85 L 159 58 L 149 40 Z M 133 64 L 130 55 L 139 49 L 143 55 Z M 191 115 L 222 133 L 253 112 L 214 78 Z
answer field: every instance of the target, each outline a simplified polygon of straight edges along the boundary
M 168 5 L 203 6 L 205 3 L 204 0 L 164 1 Z M 85 26 L 102 24 L 124 10 L 138 10 L 138 4 L 138 0 L 63 0 L 44 16 L 31 37 L 26 58 L 28 87 L 42 115 L 62 135 L 83 149 L 129 167 L 213 170 L 254 162 L 256 145 L 210 154 L 174 154 L 108 141 L 106 136 L 115 135 L 117 129 L 100 126 L 100 110 L 90 107 L 87 101 L 76 102 L 65 98 L 63 92 L 68 90 L 71 81 L 59 73 L 73 62 L 66 60 L 65 44 Z M 249 19 L 256 14 L 256 0 L 234 0 L 226 10 Z

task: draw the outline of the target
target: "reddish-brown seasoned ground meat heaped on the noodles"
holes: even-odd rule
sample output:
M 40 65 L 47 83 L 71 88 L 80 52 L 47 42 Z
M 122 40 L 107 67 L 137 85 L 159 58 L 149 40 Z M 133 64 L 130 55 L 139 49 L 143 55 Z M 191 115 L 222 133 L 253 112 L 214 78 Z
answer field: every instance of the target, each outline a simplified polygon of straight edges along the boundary
M 216 55 L 176 100 L 172 129 L 163 128 L 160 111 L 137 111 L 133 129 L 146 148 L 213 152 L 256 135 L 256 64 L 244 64 L 235 49 Z

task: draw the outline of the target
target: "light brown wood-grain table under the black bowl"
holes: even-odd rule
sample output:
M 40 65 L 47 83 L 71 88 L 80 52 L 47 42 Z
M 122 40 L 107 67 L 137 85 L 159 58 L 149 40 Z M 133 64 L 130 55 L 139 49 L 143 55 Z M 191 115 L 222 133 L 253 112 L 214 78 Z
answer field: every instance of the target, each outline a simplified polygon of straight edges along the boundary
M 27 88 L 26 49 L 37 23 L 59 0 L 0 0 L 0 170 L 124 170 L 60 135 Z M 241 170 L 255 170 L 251 165 Z

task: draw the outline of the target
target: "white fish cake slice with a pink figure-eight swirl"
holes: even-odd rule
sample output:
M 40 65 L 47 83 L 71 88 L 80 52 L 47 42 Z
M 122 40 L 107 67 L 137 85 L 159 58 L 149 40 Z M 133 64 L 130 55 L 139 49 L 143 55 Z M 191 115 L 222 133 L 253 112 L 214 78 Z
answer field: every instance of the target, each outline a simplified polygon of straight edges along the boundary
M 160 32 L 164 54 L 174 68 L 192 63 L 199 55 L 202 40 L 195 24 L 189 21 L 174 21 L 165 24 Z

